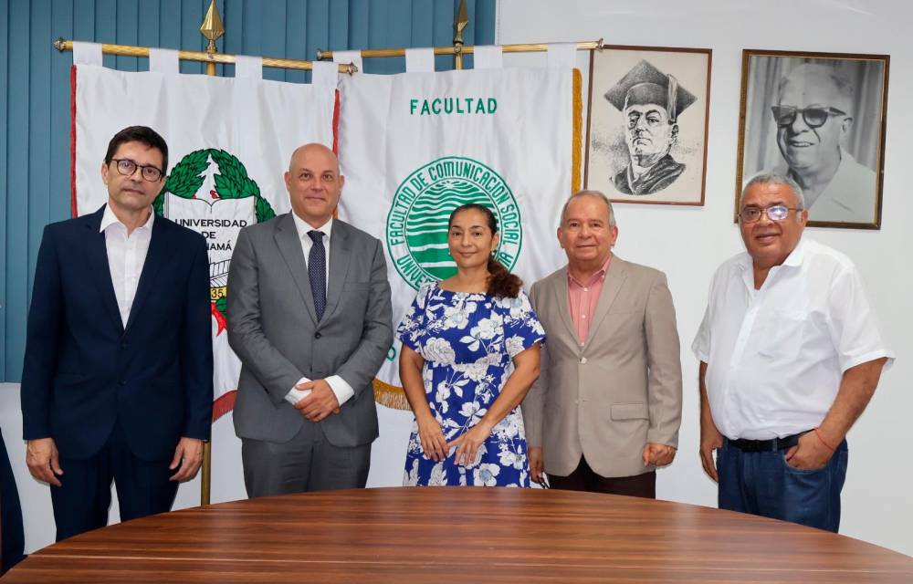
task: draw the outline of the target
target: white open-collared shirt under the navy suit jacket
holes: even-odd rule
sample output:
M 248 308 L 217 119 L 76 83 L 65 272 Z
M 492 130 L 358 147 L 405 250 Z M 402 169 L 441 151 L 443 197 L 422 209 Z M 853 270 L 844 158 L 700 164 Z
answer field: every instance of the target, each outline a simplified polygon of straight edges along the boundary
M 127 235 L 127 225 L 121 223 L 117 215 L 111 211 L 110 205 L 105 205 L 105 212 L 101 216 L 99 231 L 105 234 L 111 283 L 114 285 L 114 296 L 117 297 L 124 328 L 127 327 L 127 320 L 130 318 L 136 287 L 140 284 L 142 265 L 145 264 L 146 254 L 149 252 L 154 220 L 155 214 L 151 212 L 145 224 Z

